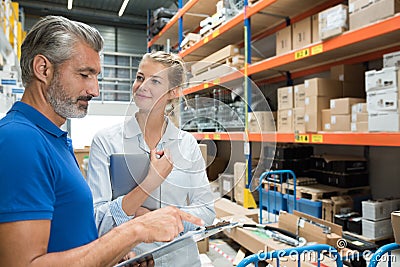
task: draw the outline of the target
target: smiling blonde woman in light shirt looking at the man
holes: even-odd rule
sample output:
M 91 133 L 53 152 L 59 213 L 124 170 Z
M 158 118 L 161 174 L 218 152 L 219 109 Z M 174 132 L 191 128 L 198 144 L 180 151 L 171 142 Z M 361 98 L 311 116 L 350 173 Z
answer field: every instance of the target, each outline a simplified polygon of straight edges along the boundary
M 123 124 L 95 135 L 87 181 L 93 193 L 100 235 L 149 212 L 145 205 L 149 198 L 157 198 L 158 208 L 176 206 L 212 224 L 213 197 L 197 141 L 165 115 L 168 103 L 179 95 L 185 76 L 184 62 L 177 55 L 162 51 L 145 54 L 133 84 L 138 111 Z M 113 199 L 109 158 L 116 153 L 149 154 L 150 167 L 139 186 Z M 184 231 L 196 227 L 185 223 Z M 158 245 L 141 244 L 136 253 Z M 196 243 L 156 258 L 155 266 L 200 266 Z

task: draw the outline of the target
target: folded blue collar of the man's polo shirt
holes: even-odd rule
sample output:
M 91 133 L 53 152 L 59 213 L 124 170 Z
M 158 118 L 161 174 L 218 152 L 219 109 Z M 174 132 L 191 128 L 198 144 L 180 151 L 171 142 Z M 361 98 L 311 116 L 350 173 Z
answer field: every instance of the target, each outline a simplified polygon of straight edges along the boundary
M 21 101 L 15 102 L 14 105 L 11 107 L 11 109 L 8 112 L 11 112 L 11 111 L 21 112 L 33 124 L 35 124 L 39 128 L 43 129 L 44 131 L 46 131 L 56 137 L 61 137 L 61 136 L 67 134 L 67 132 L 64 132 L 63 130 L 61 130 L 57 125 L 55 125 L 53 122 L 51 122 L 46 116 L 44 116 L 42 113 L 40 113 L 34 107 L 32 107 L 24 102 L 21 102 Z

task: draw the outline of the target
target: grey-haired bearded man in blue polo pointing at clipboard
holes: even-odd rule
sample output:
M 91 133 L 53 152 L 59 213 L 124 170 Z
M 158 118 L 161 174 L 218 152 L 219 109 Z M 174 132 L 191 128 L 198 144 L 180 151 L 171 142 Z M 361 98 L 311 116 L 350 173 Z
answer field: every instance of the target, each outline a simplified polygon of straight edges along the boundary
M 0 266 L 112 266 L 141 242 L 172 240 L 182 220 L 203 223 L 167 207 L 98 238 L 90 189 L 60 126 L 99 95 L 102 48 L 96 29 L 57 16 L 22 44 L 25 93 L 0 121 Z M 165 157 L 151 165 L 160 175 L 172 168 Z

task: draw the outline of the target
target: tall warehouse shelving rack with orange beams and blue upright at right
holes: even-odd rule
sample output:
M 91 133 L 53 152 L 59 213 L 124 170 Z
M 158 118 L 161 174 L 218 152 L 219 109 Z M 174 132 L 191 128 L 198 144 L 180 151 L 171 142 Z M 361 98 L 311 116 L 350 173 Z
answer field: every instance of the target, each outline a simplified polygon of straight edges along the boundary
M 210 6 L 216 1 L 202 1 L 202 6 Z M 317 14 L 342 1 L 314 0 L 264 0 L 251 6 L 245 1 L 245 8 L 231 20 L 217 27 L 212 33 L 204 36 L 193 46 L 180 52 L 186 62 L 202 59 L 218 51 L 228 44 L 245 47 L 245 67 L 238 72 L 219 77 L 215 80 L 186 88 L 183 94 L 193 94 L 222 85 L 229 81 L 251 76 L 258 84 L 271 84 L 285 81 L 287 74 L 292 79 L 324 72 L 339 64 L 355 64 L 382 58 L 383 54 L 400 50 L 400 15 L 395 15 L 362 28 L 347 31 L 337 37 L 313 43 L 301 49 L 272 56 L 254 64 L 251 63 L 250 43 L 283 29 L 290 22 L 300 21 L 310 15 Z M 200 1 L 191 0 L 182 7 L 157 38 L 148 43 L 171 44 L 179 46 L 177 21 L 183 18 L 185 32 L 195 29 L 197 24 L 186 20 L 188 13 L 194 13 L 200 7 Z M 210 15 L 210 14 L 209 14 Z M 246 28 L 246 20 L 248 27 Z M 248 36 L 249 38 L 245 38 Z M 250 38 L 251 37 L 251 38 Z M 244 40 L 244 41 L 243 41 Z M 285 75 L 283 75 L 285 74 Z M 249 97 L 246 100 L 251 101 Z M 246 116 L 247 121 L 247 116 Z M 246 127 L 247 128 L 247 127 Z M 233 140 L 244 142 L 278 142 L 335 144 L 356 146 L 400 146 L 400 133 L 351 133 L 351 132 L 318 132 L 318 133 L 249 133 L 245 132 L 198 132 L 193 133 L 196 139 Z M 246 155 L 247 156 L 247 155 Z M 249 157 L 251 158 L 251 157 Z M 249 165 L 248 165 L 249 166 Z M 251 177 L 248 177 L 248 184 Z

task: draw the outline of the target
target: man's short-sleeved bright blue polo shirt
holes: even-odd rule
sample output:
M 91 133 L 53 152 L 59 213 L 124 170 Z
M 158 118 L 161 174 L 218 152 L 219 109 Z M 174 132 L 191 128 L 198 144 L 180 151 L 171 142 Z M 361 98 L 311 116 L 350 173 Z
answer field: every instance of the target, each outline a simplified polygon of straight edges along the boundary
M 0 223 L 51 220 L 48 252 L 97 236 L 93 199 L 67 133 L 16 102 L 0 121 Z

